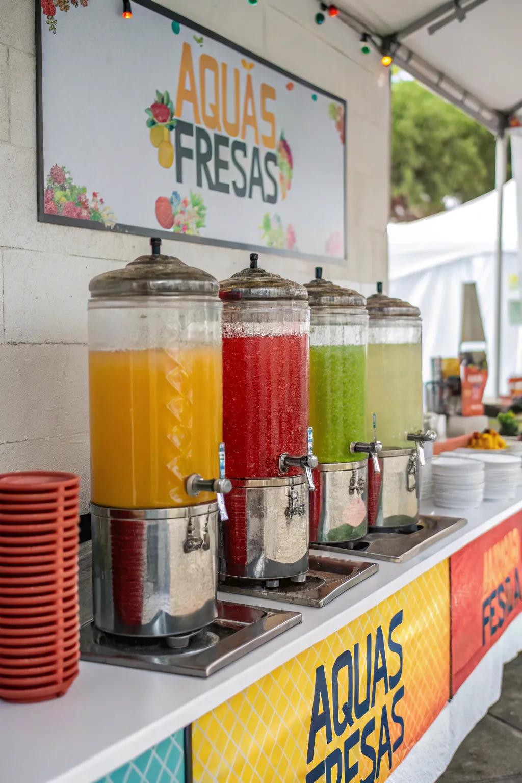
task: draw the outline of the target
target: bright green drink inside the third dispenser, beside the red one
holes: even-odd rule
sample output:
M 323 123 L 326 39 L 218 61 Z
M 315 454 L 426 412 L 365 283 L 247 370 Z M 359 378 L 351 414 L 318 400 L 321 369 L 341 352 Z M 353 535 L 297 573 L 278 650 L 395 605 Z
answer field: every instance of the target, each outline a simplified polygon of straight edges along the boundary
M 366 435 L 366 346 L 311 345 L 310 424 L 319 462 L 356 462 L 350 444 Z

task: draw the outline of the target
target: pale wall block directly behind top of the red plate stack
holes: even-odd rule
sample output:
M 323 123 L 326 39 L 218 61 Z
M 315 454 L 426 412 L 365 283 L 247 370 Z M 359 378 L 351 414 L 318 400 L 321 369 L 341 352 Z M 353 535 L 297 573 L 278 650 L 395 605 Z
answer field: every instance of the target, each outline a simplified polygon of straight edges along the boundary
M 88 434 L 0 446 L 2 471 L 70 471 L 80 476 L 80 514 L 88 511 L 91 471 Z

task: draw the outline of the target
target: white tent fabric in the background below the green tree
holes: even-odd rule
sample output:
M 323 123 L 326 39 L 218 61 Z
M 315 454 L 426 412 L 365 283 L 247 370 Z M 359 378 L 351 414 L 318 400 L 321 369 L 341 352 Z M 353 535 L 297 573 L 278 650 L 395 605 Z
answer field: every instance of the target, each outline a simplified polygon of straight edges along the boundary
M 489 377 L 486 394 L 495 388 L 495 191 L 461 207 L 411 223 L 390 224 L 390 293 L 417 305 L 423 316 L 423 377 L 431 378 L 432 356 L 459 351 L 462 283 L 477 283 L 486 340 Z M 517 186 L 504 186 L 501 391 L 519 367 L 520 327 L 509 323 L 509 300 L 520 300 L 513 288 L 518 274 Z M 517 305 L 514 305 L 515 307 Z

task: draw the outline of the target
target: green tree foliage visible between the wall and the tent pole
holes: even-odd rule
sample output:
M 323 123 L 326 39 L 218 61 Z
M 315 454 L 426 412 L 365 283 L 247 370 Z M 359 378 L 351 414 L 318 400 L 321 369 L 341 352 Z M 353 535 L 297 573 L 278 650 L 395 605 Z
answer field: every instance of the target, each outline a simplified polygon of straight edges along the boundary
M 495 186 L 495 138 L 418 81 L 392 85 L 391 213 L 398 219 L 443 210 Z

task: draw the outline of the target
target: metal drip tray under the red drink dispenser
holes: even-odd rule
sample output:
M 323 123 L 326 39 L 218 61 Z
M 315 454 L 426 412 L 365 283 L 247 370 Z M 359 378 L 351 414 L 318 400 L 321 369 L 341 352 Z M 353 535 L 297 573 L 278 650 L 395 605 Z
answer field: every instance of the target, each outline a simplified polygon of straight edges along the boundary
M 350 562 L 335 557 L 311 555 L 310 569 L 304 582 L 279 579 L 278 587 L 267 587 L 265 582 L 225 577 L 220 580 L 218 589 L 224 593 L 269 598 L 271 601 L 285 601 L 287 604 L 320 608 L 378 570 L 377 563 Z

